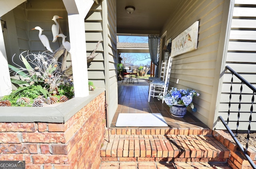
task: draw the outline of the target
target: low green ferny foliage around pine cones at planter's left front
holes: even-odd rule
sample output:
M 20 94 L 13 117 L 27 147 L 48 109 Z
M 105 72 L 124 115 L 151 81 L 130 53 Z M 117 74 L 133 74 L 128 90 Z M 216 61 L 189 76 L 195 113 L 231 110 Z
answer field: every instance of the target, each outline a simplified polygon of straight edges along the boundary
M 20 97 L 27 97 L 30 98 L 30 104 L 32 104 L 34 98 L 37 98 L 39 95 L 44 95 L 45 98 L 47 98 L 49 93 L 40 85 L 24 86 L 19 87 L 17 90 L 13 90 L 11 94 L 4 96 L 2 100 L 10 100 L 12 106 L 31 106 L 17 104 L 16 101 Z

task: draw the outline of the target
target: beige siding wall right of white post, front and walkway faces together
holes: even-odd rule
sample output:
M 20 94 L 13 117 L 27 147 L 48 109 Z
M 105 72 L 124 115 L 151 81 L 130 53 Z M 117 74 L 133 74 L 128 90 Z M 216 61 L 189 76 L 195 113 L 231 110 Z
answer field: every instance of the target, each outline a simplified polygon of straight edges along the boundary
M 109 124 L 118 105 L 117 51 L 116 51 L 116 1 L 100 0 L 94 3 L 85 20 L 87 55 L 101 41 L 97 56 L 88 67 L 88 79 L 96 86 L 106 87 Z

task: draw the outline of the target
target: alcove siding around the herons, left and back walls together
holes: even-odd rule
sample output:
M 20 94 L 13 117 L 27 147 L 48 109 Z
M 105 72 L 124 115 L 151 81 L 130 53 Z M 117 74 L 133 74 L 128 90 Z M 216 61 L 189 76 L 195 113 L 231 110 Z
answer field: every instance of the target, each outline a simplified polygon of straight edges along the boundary
M 10 13 L 12 13 L 13 16 L 10 16 Z M 29 51 L 29 53 L 35 54 L 46 51 L 46 48 L 42 45 L 38 37 L 39 31 L 31 30 L 36 26 L 40 26 L 42 29 L 44 29 L 42 34 L 48 37 L 50 47 L 53 51 L 60 47 L 60 38 L 60 45 L 58 42 L 52 43 L 53 37 L 51 29 L 52 24 L 54 24 L 54 21 L 52 21 L 52 17 L 54 15 L 63 17 L 63 19 L 60 19 L 60 27 L 63 34 L 67 36 L 66 40 L 69 41 L 68 15 L 62 0 L 28 0 L 27 2 L 24 2 L 14 8 L 10 13 L 8 14 L 9 16 L 7 18 L 7 24 L 9 24 L 8 40 L 10 41 L 9 45 L 11 45 L 11 47 L 10 49 L 7 49 L 6 52 L 8 57 L 12 57 L 14 54 L 16 55 L 16 58 L 14 59 L 15 63 L 21 64 L 21 62 L 18 60 L 18 56 L 23 51 Z M 12 20 L 10 17 L 13 17 L 14 20 Z M 10 59 L 8 58 L 8 60 Z

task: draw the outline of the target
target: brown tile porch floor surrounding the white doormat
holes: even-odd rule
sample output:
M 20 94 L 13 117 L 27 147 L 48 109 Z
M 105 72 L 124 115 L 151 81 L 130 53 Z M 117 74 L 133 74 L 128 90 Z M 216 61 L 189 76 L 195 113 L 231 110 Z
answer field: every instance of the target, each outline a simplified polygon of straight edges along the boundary
M 117 128 L 115 124 L 119 113 L 161 113 L 168 128 L 208 128 L 189 112 L 183 118 L 172 116 L 170 108 L 157 98 L 151 97 L 148 102 L 148 86 L 118 86 L 118 108 L 110 128 Z

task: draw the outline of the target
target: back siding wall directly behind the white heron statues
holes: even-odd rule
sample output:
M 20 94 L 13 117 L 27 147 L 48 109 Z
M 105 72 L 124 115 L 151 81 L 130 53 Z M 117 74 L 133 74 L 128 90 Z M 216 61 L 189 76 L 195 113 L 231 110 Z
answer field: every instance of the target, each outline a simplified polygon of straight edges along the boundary
M 49 40 L 50 47 L 53 51 L 57 50 L 60 45 L 62 45 L 62 38 L 58 38 L 56 42 L 52 42 L 52 24 L 55 22 L 52 20 L 54 15 L 58 15 L 62 17 L 62 19 L 58 19 L 60 23 L 60 29 L 62 33 L 66 36 L 66 41 L 70 41 L 69 39 L 69 30 L 68 30 L 68 13 L 66 12 L 66 8 L 62 2 L 62 0 L 29 0 L 26 4 L 26 13 L 27 13 L 27 27 L 28 27 L 28 35 L 30 37 L 30 46 L 32 53 L 38 54 L 42 53 L 47 49 L 41 43 L 38 37 L 38 30 L 31 30 L 36 26 L 39 26 L 43 29 L 42 35 L 46 35 Z M 49 54 L 52 54 L 48 52 Z M 70 63 L 70 60 L 67 61 Z

